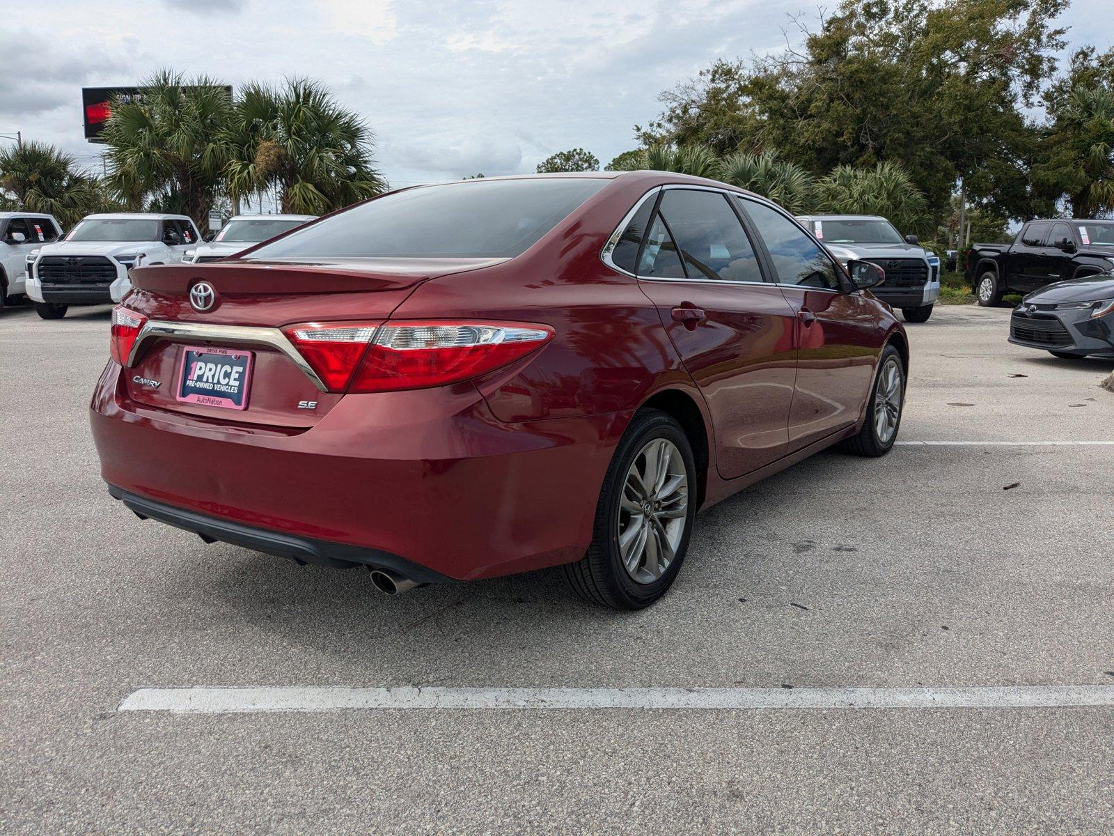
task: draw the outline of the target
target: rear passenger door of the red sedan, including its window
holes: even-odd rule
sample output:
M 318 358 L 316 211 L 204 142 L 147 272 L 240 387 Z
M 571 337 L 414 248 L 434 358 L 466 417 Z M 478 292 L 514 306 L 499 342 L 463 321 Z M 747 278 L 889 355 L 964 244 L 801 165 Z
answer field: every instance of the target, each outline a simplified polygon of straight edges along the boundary
M 785 455 L 794 312 L 723 192 L 666 187 L 648 221 L 638 282 L 712 416 L 725 478 Z

